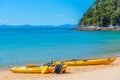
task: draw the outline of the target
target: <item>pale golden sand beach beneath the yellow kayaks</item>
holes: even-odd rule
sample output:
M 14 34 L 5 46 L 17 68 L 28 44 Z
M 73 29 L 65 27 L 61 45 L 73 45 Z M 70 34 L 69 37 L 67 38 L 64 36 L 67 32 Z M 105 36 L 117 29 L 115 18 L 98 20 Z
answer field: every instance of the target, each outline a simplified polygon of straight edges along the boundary
M 110 65 L 72 66 L 65 74 L 22 74 L 0 71 L 0 80 L 120 80 L 120 57 Z

